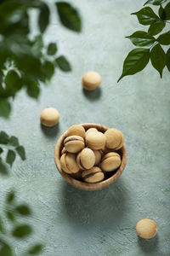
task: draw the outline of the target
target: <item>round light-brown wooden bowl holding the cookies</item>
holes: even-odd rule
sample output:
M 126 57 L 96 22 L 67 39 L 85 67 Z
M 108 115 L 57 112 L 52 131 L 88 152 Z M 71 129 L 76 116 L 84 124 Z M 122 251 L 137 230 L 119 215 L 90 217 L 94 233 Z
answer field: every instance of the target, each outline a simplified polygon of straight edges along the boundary
M 81 124 L 85 130 L 88 130 L 89 128 L 96 128 L 98 131 L 105 132 L 109 129 L 109 127 L 105 125 L 99 125 L 99 124 Z M 65 137 L 67 136 L 67 131 L 59 137 L 58 142 L 55 145 L 54 149 L 54 159 L 55 159 L 55 165 L 57 166 L 59 173 L 62 175 L 62 177 L 65 178 L 65 180 L 68 183 L 71 183 L 74 187 L 78 189 L 84 189 L 84 190 L 98 190 L 98 189 L 103 189 L 107 186 L 109 186 L 111 183 L 114 183 L 116 179 L 122 174 L 122 171 L 124 170 L 127 162 L 127 150 L 125 148 L 125 145 L 122 146 L 119 150 L 116 150 L 118 154 L 121 155 L 122 163 L 121 166 L 115 171 L 115 172 L 108 172 L 107 175 L 108 177 L 99 183 L 84 183 L 82 181 L 79 181 L 75 179 L 74 177 L 71 177 L 70 174 L 67 174 L 62 171 L 61 165 L 60 165 L 60 156 L 61 156 L 61 150 L 64 147 L 64 140 Z

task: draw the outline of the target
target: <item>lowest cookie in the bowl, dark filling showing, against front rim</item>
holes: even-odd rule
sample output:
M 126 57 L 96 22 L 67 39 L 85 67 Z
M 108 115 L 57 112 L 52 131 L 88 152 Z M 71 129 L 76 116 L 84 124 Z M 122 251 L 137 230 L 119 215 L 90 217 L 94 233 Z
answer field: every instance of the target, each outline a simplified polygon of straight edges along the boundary
M 87 183 L 99 183 L 105 178 L 105 175 L 98 166 L 94 166 L 87 171 L 83 171 L 82 178 Z

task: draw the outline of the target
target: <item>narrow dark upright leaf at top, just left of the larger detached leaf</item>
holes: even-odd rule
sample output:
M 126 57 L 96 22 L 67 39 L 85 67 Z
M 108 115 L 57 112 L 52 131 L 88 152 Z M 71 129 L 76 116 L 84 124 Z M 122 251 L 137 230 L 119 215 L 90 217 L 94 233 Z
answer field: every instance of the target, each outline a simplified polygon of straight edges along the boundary
M 40 13 L 38 16 L 38 25 L 42 33 L 45 32 L 45 30 L 47 29 L 48 23 L 49 23 L 48 5 L 46 3 L 42 3 L 40 7 Z

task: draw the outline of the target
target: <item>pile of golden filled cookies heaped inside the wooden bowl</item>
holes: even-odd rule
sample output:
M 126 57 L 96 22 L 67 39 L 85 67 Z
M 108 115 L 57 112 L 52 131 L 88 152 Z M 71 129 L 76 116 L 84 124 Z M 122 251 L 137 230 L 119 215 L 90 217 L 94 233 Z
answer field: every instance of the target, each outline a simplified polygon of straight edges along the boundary
M 121 166 L 122 131 L 114 128 L 105 133 L 96 128 L 85 131 L 82 125 L 72 125 L 67 131 L 61 150 L 60 164 L 63 172 L 86 183 L 98 183 Z

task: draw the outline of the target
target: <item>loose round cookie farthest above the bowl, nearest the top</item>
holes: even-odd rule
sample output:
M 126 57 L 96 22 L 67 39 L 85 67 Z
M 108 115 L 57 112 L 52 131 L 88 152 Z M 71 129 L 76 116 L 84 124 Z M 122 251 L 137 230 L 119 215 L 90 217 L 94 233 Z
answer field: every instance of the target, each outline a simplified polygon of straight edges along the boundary
M 99 73 L 90 71 L 85 73 L 82 77 L 82 86 L 85 90 L 95 90 L 101 84 L 101 77 Z

